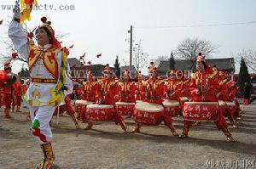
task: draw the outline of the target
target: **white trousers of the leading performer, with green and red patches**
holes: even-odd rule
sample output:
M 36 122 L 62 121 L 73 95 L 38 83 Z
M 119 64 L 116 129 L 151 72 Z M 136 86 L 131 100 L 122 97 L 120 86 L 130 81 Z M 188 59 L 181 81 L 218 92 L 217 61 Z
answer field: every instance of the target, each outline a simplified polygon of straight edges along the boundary
M 32 120 L 32 135 L 38 144 L 46 144 L 52 138 L 49 121 L 55 112 L 55 106 L 28 106 Z M 36 125 L 35 125 L 36 124 Z

